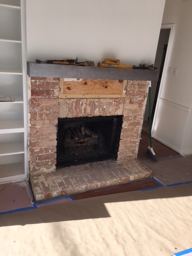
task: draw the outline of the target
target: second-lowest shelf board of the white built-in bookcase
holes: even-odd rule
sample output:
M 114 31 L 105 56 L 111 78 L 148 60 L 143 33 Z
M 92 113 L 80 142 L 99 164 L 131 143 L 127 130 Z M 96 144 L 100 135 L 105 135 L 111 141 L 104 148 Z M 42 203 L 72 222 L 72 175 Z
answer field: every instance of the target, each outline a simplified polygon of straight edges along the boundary
M 24 144 L 23 142 L 7 142 L 0 143 L 0 156 L 8 156 L 14 154 L 23 154 Z

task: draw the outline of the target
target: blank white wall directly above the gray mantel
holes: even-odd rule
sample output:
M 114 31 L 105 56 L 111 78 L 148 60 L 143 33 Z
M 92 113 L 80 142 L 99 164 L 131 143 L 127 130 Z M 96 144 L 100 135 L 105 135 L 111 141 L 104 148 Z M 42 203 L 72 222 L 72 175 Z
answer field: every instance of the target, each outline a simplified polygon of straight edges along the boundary
M 27 60 L 154 63 L 165 0 L 26 0 Z

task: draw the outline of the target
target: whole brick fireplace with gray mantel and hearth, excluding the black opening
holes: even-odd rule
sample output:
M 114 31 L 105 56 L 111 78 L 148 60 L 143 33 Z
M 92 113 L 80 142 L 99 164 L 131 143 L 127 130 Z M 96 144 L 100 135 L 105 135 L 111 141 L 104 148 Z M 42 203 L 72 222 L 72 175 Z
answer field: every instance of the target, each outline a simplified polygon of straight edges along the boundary
M 151 70 L 131 70 L 130 72 L 134 72 L 131 75 L 127 74 L 127 70 L 120 70 L 118 71 L 120 73 L 116 74 L 116 69 L 111 71 L 111 68 L 82 69 L 82 67 L 63 66 L 65 65 L 28 63 L 29 167 L 35 199 L 45 200 L 150 177 L 150 171 L 141 166 L 136 158 L 146 106 L 148 80 L 150 78 L 154 80 L 158 74 Z M 61 80 L 65 77 L 88 77 L 88 80 L 123 78 L 124 96 L 59 98 Z M 131 79 L 125 80 L 128 77 Z M 133 79 L 135 77 L 145 80 Z M 122 116 L 116 160 L 87 163 L 78 168 L 71 166 L 57 169 L 58 119 L 104 116 Z

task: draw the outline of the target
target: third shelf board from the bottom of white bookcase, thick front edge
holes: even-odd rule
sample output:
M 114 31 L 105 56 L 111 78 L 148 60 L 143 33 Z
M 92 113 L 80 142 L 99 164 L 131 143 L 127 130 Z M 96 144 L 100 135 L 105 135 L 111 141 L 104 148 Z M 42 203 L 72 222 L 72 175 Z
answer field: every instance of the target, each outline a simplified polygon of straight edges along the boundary
M 0 120 L 0 134 L 24 132 L 23 120 Z

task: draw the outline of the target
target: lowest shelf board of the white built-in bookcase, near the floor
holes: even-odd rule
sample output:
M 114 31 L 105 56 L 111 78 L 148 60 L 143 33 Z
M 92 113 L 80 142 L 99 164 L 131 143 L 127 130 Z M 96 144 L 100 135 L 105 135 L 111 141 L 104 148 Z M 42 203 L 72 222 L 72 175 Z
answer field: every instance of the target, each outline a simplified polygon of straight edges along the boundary
M 24 178 L 24 176 L 23 162 L 0 165 L 0 182 L 19 180 Z

